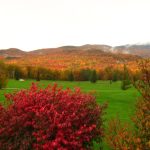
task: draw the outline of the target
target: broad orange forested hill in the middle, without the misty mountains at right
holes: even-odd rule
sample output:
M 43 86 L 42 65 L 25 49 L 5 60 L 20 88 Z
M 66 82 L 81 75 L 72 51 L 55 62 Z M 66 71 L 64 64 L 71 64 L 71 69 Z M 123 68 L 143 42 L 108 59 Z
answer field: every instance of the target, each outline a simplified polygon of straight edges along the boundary
M 120 66 L 123 63 L 134 62 L 140 57 L 129 54 L 116 54 L 102 50 L 102 47 L 59 47 L 55 49 L 40 49 L 26 52 L 19 59 L 7 59 L 9 64 L 21 66 L 41 66 L 54 70 L 65 69 L 103 69 L 107 66 Z M 105 49 L 108 47 L 104 46 Z

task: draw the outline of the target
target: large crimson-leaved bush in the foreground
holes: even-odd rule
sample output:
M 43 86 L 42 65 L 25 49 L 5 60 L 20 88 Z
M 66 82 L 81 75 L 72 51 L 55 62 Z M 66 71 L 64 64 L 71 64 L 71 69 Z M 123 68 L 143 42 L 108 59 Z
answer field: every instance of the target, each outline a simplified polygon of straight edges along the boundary
M 91 149 L 102 139 L 104 106 L 79 89 L 33 84 L 6 98 L 11 104 L 0 107 L 1 150 Z

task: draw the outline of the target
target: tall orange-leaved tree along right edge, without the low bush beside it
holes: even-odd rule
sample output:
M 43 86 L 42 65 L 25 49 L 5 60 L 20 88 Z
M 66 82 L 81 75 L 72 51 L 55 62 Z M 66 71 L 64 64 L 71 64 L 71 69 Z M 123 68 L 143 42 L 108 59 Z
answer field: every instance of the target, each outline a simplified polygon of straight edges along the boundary
M 141 97 L 136 104 L 136 114 L 133 121 L 136 126 L 137 137 L 141 140 L 143 150 L 150 149 L 150 59 L 140 61 L 140 80 L 135 82 Z

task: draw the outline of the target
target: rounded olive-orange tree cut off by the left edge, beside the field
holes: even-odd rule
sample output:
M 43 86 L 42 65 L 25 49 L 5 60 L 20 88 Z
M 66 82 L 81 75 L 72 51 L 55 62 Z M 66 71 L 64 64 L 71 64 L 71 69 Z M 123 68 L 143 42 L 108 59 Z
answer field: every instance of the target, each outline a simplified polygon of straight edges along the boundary
M 7 85 L 7 69 L 6 65 L 3 62 L 0 62 L 0 89 L 6 87 Z

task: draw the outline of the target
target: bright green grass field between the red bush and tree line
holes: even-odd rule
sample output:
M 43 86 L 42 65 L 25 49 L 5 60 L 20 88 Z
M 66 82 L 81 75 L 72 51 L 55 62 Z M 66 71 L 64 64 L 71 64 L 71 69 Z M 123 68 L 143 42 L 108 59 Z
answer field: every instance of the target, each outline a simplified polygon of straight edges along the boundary
M 11 88 L 26 89 L 29 88 L 34 80 L 26 80 L 25 82 L 9 80 L 7 88 L 5 90 L 0 90 L 0 102 L 4 103 L 4 94 L 12 92 Z M 84 82 L 69 82 L 69 81 L 40 81 L 40 86 L 47 86 L 48 84 L 53 84 L 56 82 L 59 86 L 64 88 L 75 88 L 80 87 L 84 92 L 95 91 L 96 100 L 99 104 L 104 102 L 108 103 L 108 108 L 106 110 L 105 119 L 106 122 L 112 118 L 118 116 L 121 121 L 129 122 L 131 116 L 134 114 L 135 102 L 139 93 L 135 88 L 130 88 L 126 91 L 121 90 L 121 82 L 115 82 L 110 84 L 109 81 L 98 81 L 97 83 Z M 95 147 L 98 149 L 98 146 Z M 108 149 L 105 148 L 104 149 Z

